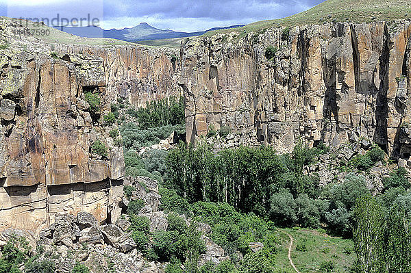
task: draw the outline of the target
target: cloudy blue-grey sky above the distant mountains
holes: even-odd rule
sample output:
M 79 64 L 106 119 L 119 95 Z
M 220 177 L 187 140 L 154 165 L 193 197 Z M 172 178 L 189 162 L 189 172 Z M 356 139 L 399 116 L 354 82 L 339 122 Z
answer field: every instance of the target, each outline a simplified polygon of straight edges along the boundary
M 122 29 L 145 22 L 159 29 L 201 31 L 282 18 L 308 10 L 322 1 L 0 0 L 0 16 L 32 18 L 32 21 L 38 18 L 54 26 L 79 26 L 82 23 L 82 26 Z

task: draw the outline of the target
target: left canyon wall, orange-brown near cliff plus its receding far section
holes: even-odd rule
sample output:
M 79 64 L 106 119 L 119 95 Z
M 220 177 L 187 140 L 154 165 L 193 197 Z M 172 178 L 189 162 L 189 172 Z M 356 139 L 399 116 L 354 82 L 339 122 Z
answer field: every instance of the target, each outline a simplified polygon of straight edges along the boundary
M 39 231 L 55 213 L 79 211 L 116 221 L 125 165 L 103 116 L 119 96 L 142 106 L 177 94 L 171 53 L 45 44 L 7 18 L 0 36 L 0 229 Z M 107 155 L 93 153 L 97 141 Z

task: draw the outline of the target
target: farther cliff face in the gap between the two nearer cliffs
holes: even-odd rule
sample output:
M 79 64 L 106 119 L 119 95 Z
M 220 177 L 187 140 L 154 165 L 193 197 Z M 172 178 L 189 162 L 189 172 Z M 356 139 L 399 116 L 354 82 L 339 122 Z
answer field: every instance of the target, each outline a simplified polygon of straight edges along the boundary
M 128 99 L 135 107 L 149 101 L 183 96 L 178 86 L 179 64 L 174 49 L 145 47 L 86 47 L 58 45 L 62 53 L 100 57 L 110 99 Z

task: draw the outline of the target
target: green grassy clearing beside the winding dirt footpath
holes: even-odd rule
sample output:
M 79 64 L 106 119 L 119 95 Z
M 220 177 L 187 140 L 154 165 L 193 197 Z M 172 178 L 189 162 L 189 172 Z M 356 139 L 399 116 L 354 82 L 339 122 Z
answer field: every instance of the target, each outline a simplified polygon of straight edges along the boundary
M 288 261 L 290 239 L 286 233 L 294 238 L 291 259 L 301 273 L 322 272 L 321 264 L 329 261 L 334 265 L 333 272 L 349 272 L 356 259 L 351 239 L 332 237 L 322 230 L 277 229 L 281 242 L 277 265 L 281 268 L 294 270 Z

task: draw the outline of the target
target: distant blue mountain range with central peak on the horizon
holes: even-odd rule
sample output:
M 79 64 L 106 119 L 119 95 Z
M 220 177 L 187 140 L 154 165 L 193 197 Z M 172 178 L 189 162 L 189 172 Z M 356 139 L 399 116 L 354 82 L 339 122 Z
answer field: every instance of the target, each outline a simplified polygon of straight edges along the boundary
M 182 32 L 182 31 L 173 31 L 170 29 L 156 29 L 151 27 L 147 23 L 140 23 L 136 27 L 124 28 L 124 29 L 101 29 L 100 27 L 88 26 L 88 27 L 54 27 L 69 34 L 74 34 L 75 36 L 88 37 L 88 38 L 114 38 L 118 40 L 123 40 L 127 42 L 137 42 L 144 40 L 162 40 L 169 38 L 184 38 L 199 36 L 205 34 L 210 30 L 217 29 L 230 29 L 235 27 L 242 27 L 244 25 L 232 25 L 229 27 L 213 27 L 206 31 L 197 31 L 197 32 Z

